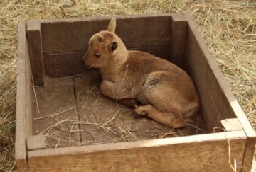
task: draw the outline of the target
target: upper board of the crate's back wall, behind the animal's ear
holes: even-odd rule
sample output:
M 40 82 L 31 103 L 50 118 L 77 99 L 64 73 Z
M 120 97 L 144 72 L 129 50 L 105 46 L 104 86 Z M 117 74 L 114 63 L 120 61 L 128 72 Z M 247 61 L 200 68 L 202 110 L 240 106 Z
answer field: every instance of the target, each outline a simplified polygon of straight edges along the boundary
M 107 30 L 111 18 L 108 16 L 41 21 L 43 50 L 47 53 L 86 51 L 90 37 L 100 30 Z M 116 33 L 127 48 L 169 45 L 170 30 L 170 14 L 117 16 Z

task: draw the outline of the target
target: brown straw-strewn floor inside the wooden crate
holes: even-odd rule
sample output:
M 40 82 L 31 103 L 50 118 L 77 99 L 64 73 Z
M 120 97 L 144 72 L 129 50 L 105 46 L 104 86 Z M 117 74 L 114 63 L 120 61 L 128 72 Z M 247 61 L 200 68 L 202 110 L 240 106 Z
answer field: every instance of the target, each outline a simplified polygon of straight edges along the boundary
M 47 77 L 46 86 L 35 88 L 33 134 L 44 134 L 46 146 L 53 148 L 206 133 L 200 115 L 180 130 L 138 118 L 132 109 L 102 96 L 100 82 L 98 71 Z

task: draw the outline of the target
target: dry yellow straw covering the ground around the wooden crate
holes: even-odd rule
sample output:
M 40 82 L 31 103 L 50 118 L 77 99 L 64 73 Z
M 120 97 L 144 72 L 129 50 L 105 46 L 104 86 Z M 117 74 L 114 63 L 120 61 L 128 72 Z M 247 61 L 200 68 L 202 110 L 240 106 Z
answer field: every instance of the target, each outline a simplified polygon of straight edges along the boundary
M 235 97 L 256 128 L 255 1 L 32 1 L 0 2 L 0 171 L 14 167 L 18 18 L 69 18 L 191 11 Z

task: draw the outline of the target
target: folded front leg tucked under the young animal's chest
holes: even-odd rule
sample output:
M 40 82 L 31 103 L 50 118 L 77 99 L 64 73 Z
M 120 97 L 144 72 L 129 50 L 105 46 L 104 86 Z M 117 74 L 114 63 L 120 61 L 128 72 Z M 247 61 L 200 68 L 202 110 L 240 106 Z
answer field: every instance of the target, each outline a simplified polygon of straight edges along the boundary
M 100 84 L 100 89 L 102 91 L 102 94 L 104 96 L 114 98 L 114 99 L 123 99 L 123 98 L 132 98 L 131 97 L 131 91 L 127 89 L 122 84 L 114 83 L 110 81 L 102 81 Z

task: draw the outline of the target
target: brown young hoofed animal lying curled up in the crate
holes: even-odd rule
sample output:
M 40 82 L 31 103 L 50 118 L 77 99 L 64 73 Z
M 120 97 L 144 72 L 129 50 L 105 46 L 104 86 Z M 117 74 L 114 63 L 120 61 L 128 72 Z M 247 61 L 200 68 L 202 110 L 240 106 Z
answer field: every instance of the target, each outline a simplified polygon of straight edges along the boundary
M 186 126 L 186 118 L 199 109 L 196 88 L 188 74 L 171 62 L 146 52 L 129 51 L 114 32 L 112 18 L 107 30 L 92 35 L 82 62 L 100 70 L 102 94 L 115 100 L 135 99 L 137 115 L 146 115 L 169 127 Z

